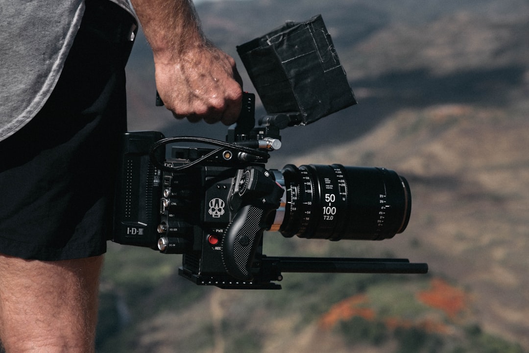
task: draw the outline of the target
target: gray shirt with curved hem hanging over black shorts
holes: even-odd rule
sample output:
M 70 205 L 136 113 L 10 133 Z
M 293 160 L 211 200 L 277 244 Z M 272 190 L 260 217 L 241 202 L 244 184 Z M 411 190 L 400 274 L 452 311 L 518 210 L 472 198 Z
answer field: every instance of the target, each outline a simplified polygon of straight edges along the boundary
M 112 1 L 133 14 L 126 0 Z M 0 141 L 47 101 L 84 9 L 84 0 L 0 0 Z

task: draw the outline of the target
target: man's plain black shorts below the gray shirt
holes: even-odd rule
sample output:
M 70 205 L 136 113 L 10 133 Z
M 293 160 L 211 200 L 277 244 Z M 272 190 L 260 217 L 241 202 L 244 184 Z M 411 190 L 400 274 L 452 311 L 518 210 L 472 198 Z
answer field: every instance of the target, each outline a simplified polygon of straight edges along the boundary
M 87 0 L 52 95 L 0 142 L 0 253 L 62 260 L 106 251 L 133 24 L 110 1 Z

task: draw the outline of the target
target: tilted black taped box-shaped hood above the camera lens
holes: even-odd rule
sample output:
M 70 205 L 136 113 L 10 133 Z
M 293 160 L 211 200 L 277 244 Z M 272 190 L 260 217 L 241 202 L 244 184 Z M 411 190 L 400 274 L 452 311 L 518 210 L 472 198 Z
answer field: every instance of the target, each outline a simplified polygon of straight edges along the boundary
M 237 51 L 267 114 L 294 116 L 289 125 L 357 103 L 321 15 L 287 22 Z

